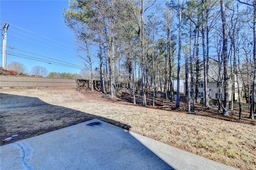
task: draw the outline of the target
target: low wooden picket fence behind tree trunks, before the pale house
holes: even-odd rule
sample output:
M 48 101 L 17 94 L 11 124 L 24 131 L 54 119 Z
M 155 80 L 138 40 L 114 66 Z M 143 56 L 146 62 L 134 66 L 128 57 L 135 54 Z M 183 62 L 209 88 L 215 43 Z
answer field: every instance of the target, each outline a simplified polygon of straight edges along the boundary
M 177 97 L 174 95 L 174 100 L 176 100 Z M 188 97 L 184 95 L 180 95 L 180 101 L 184 103 L 188 103 Z M 224 101 L 222 101 L 224 102 Z M 190 99 L 190 103 L 192 103 L 192 99 Z M 198 97 L 195 99 L 195 103 L 204 105 L 204 98 Z M 218 106 L 218 99 L 209 99 L 209 104 L 211 106 Z M 228 102 L 228 108 L 231 109 L 231 101 Z M 233 102 L 233 109 L 238 110 L 239 109 L 239 102 L 234 101 Z M 242 110 L 244 111 L 250 111 L 250 103 L 242 103 Z

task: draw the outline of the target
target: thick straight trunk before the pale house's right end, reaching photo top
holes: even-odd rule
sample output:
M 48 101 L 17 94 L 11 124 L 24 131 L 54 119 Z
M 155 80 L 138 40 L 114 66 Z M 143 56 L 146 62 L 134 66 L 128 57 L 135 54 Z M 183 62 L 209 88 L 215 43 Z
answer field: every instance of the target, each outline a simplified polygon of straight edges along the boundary
M 224 65 L 224 108 L 222 115 L 228 115 L 228 36 L 224 0 L 220 0 L 222 34 L 223 34 L 223 65 Z

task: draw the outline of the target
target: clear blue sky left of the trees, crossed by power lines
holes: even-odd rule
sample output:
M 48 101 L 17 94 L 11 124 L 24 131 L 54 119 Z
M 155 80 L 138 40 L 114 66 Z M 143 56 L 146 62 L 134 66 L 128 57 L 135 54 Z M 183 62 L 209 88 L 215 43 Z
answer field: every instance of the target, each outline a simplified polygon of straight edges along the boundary
M 12 61 L 21 62 L 28 73 L 35 65 L 46 67 L 49 72 L 80 72 L 80 68 L 56 65 L 64 61 L 66 66 L 84 67 L 83 61 L 76 55 L 74 34 L 64 22 L 64 7 L 68 8 L 68 0 L 0 0 L 1 30 L 4 22 L 10 24 L 7 31 L 7 65 Z M 1 66 L 2 39 L 3 36 L 0 40 Z M 34 57 L 34 60 L 24 57 Z M 50 61 L 36 61 L 40 59 Z

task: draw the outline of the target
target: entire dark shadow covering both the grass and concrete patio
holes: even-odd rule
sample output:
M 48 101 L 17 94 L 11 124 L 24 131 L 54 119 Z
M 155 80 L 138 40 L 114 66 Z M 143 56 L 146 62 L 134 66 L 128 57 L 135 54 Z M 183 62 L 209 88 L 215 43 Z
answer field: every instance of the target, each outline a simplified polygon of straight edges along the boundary
M 1 145 L 4 145 L 1 146 L 1 154 L 5 155 L 1 156 L 1 167 L 10 169 L 14 168 L 12 166 L 18 169 L 24 166 L 28 169 L 31 167 L 48 169 L 54 166 L 61 167 L 61 169 L 70 169 L 70 167 L 84 169 L 88 166 L 115 169 L 118 167 L 138 169 L 162 167 L 173 170 L 170 165 L 130 135 L 128 131 L 112 128 L 92 119 L 98 119 L 126 130 L 130 128 L 129 125 L 112 119 L 50 105 L 36 97 L 1 93 L 0 132 Z M 89 120 L 92 121 L 86 126 L 92 129 L 83 130 L 85 126 L 82 123 Z M 72 125 L 76 126 L 70 127 Z M 103 127 L 98 128 L 101 126 Z M 14 134 L 18 136 L 8 142 L 2 141 Z M 22 148 L 23 158 L 20 150 L 15 150 L 14 146 Z M 29 156 L 31 151 L 35 156 Z M 53 155 L 55 159 L 48 155 Z M 45 161 L 37 159 L 41 156 Z M 81 161 L 77 164 L 74 159 Z M 59 161 L 56 162 L 56 160 Z M 19 164 L 13 162 L 19 162 Z

